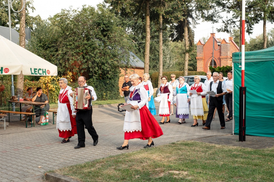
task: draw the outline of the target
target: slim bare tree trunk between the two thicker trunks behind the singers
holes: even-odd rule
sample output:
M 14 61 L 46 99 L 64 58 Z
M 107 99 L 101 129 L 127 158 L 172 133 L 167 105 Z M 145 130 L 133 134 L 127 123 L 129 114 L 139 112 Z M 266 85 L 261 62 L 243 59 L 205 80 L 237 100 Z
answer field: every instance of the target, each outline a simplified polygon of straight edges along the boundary
M 160 87 L 163 76 L 163 17 L 162 14 L 159 15 L 159 78 L 158 78 L 158 88 Z

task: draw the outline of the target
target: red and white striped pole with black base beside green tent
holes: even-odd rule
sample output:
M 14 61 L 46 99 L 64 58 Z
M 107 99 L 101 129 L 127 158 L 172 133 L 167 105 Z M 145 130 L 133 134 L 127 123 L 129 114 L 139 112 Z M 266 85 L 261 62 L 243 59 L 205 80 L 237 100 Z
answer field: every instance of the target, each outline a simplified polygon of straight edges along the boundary
M 244 43 L 246 1 L 242 0 L 242 85 L 239 96 L 239 141 L 246 141 L 246 87 L 244 86 Z

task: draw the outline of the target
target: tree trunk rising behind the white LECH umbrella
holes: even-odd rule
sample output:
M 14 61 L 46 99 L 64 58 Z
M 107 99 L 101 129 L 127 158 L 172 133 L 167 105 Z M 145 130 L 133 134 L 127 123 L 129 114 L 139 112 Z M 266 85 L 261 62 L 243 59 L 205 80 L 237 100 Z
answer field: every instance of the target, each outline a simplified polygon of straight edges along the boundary
M 23 7 L 23 0 L 20 0 L 21 2 L 21 7 L 20 9 Z M 20 12 L 20 28 L 19 28 L 19 46 L 25 48 L 25 20 L 26 20 L 26 6 L 24 7 L 24 9 Z M 17 76 L 17 84 L 16 84 L 16 90 L 17 90 L 17 95 L 19 95 L 20 97 L 23 97 L 24 91 L 24 75 L 21 73 Z

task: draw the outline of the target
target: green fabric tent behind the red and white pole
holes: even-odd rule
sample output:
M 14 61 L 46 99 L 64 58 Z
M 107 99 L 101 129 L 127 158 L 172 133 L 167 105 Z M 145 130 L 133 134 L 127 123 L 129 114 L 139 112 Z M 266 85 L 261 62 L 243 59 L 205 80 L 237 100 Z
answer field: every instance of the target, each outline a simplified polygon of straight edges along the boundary
M 239 135 L 241 52 L 232 53 L 234 133 Z M 246 135 L 274 137 L 274 46 L 245 52 Z

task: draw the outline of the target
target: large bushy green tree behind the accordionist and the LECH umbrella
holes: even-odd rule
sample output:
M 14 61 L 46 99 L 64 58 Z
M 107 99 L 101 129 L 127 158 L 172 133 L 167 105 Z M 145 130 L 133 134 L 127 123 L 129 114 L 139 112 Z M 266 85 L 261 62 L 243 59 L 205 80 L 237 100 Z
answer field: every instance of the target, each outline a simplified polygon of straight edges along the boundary
M 119 68 L 128 65 L 132 49 L 119 22 L 105 4 L 97 10 L 90 6 L 63 9 L 35 28 L 28 49 L 55 64 L 59 75 L 67 71 L 76 72 L 76 79 L 88 75 L 99 99 L 105 95 L 116 99 Z

